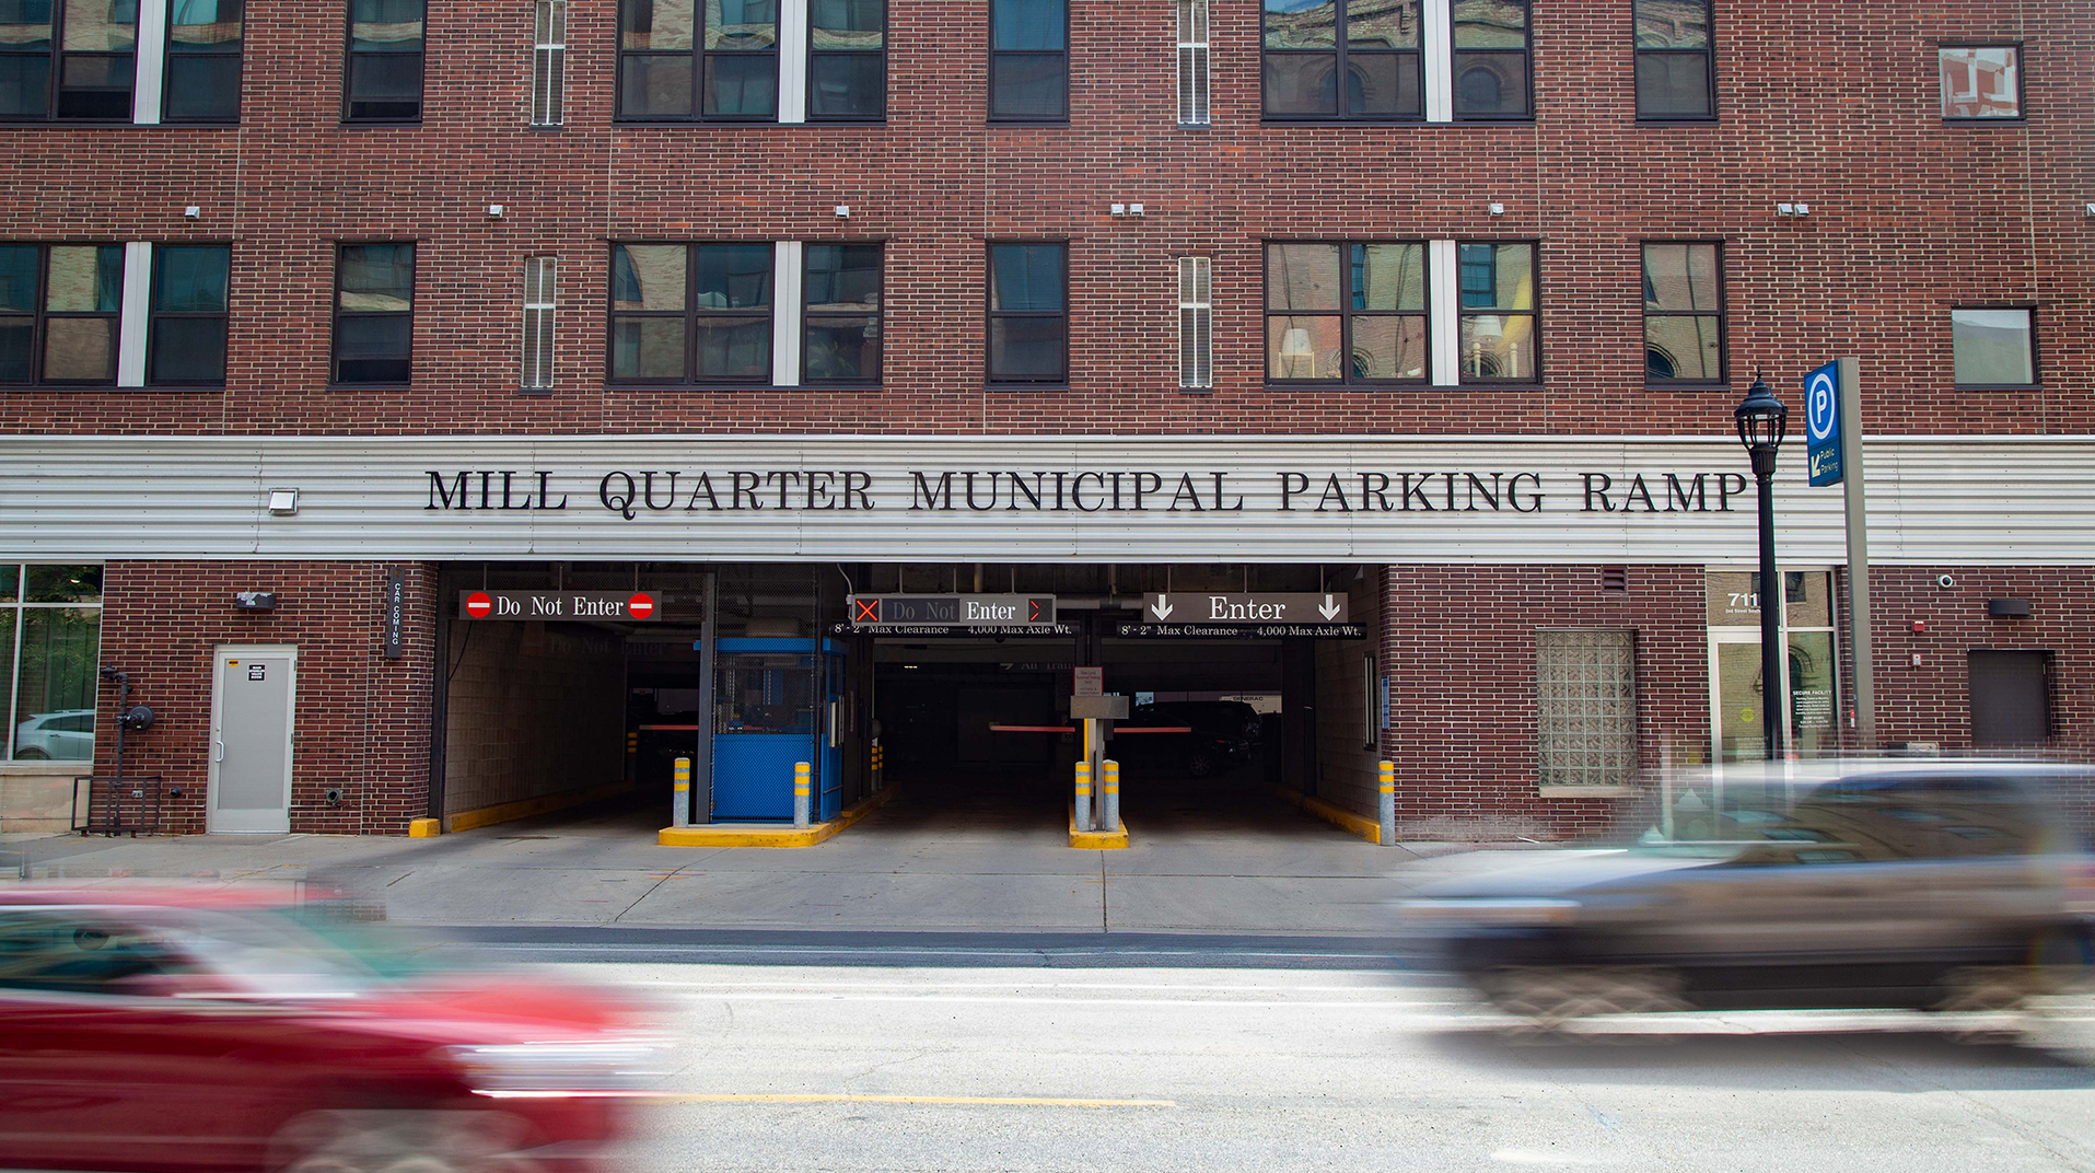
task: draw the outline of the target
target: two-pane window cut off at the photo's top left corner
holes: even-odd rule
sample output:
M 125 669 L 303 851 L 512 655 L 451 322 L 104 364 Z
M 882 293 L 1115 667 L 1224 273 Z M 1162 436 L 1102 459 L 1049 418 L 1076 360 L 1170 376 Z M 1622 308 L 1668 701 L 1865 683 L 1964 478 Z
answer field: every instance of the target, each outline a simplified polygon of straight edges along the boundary
M 136 0 L 0 2 L 0 119 L 130 121 Z

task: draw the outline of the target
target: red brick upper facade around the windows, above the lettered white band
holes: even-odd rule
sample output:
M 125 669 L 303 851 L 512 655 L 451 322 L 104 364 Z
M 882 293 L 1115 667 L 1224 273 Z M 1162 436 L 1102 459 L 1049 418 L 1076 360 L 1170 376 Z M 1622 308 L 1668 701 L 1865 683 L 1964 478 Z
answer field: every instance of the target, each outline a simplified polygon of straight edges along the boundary
M 545 132 L 528 4 L 434 0 L 423 124 L 350 128 L 341 8 L 249 4 L 239 128 L 0 130 L 0 239 L 235 241 L 230 385 L 10 394 L 0 429 L 1703 434 L 1754 364 L 1831 354 L 1865 356 L 1875 431 L 2095 429 L 2095 0 L 1720 4 L 1710 126 L 1634 124 L 1630 0 L 1534 4 L 1531 124 L 1381 128 L 1263 126 L 1259 6 L 1215 4 L 1192 130 L 1173 6 L 1077 0 L 1071 126 L 991 128 L 987 10 L 892 0 L 884 126 L 616 126 L 616 4 L 574 0 Z M 1936 42 L 1980 36 L 2024 42 L 2028 121 L 1940 119 Z M 1071 241 L 1071 390 L 985 392 L 985 237 Z M 1259 245 L 1288 237 L 1540 239 L 1544 385 L 1267 388 Z M 1653 237 L 1724 241 L 1730 388 L 1645 388 Z M 419 243 L 411 390 L 327 390 L 344 239 Z M 886 385 L 608 390 L 605 239 L 888 241 Z M 547 398 L 515 392 L 530 253 L 561 262 Z M 1213 394 L 1175 388 L 1179 253 L 1215 258 Z M 2036 306 L 2041 390 L 1950 385 L 1948 308 L 1988 302 Z

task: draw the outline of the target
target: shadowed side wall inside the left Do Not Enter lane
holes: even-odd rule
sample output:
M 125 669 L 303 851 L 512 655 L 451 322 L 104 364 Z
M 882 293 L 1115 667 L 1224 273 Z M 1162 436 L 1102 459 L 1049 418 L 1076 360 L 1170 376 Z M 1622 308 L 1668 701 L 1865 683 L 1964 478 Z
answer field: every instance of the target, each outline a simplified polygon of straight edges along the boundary
M 626 647 L 543 622 L 450 626 L 444 813 L 610 785 L 626 769 Z

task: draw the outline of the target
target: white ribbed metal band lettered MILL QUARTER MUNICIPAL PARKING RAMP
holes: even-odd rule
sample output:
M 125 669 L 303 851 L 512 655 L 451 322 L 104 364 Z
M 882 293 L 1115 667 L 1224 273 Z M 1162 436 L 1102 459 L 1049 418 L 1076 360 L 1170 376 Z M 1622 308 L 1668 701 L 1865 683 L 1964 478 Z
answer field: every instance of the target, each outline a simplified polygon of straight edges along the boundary
M 2095 436 L 1865 448 L 1873 563 L 2095 566 Z M 865 478 L 861 507 L 836 507 L 840 471 Z M 1064 509 L 1014 496 L 1014 471 Z M 1703 507 L 1678 507 L 1697 475 Z M 566 507 L 538 509 L 541 484 Z M 949 507 L 926 509 L 941 484 Z M 8 436 L 0 557 L 1745 566 L 1749 484 L 1728 436 Z M 300 511 L 270 515 L 270 488 Z M 1806 484 L 1802 446 L 1777 540 L 1791 566 L 1846 557 L 1842 492 Z

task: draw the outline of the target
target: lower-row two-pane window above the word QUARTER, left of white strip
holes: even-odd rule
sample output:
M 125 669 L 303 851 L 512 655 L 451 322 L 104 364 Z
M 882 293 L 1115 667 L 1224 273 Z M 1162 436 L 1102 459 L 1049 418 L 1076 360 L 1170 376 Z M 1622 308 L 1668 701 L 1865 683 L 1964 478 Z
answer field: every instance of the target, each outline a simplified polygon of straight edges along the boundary
M 612 379 L 771 383 L 771 245 L 612 245 Z

